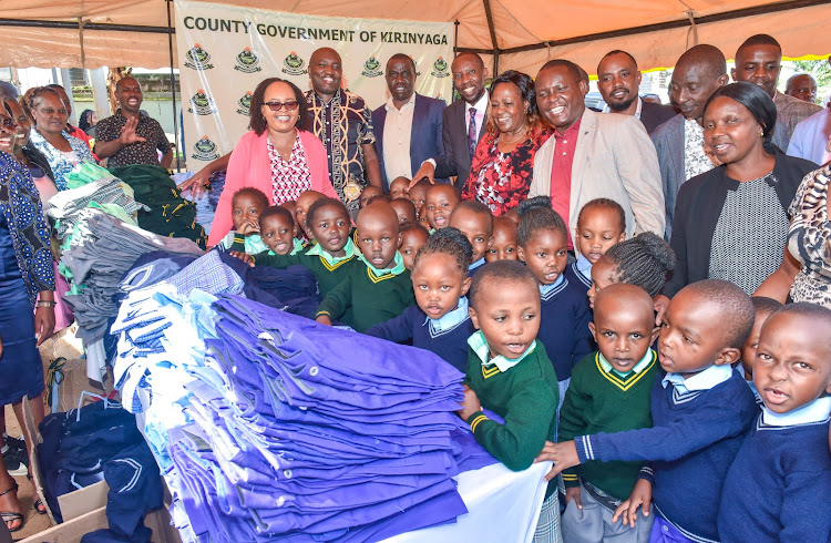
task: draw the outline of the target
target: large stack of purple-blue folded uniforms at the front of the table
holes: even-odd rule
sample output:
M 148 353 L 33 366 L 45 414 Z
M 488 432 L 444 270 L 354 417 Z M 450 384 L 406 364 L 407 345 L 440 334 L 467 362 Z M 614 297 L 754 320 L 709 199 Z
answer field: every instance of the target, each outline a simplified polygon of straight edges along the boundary
M 433 354 L 165 284 L 112 332 L 183 541 L 370 542 L 466 512 L 463 375 Z

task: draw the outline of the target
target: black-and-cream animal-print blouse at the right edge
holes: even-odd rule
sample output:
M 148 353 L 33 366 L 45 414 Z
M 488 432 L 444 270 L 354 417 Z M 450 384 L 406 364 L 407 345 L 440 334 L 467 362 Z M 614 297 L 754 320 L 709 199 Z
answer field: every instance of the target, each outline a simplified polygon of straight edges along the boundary
M 828 188 L 831 165 L 802 180 L 789 209 L 788 249 L 802 263 L 791 286 L 793 301 L 810 301 L 831 309 L 831 223 Z

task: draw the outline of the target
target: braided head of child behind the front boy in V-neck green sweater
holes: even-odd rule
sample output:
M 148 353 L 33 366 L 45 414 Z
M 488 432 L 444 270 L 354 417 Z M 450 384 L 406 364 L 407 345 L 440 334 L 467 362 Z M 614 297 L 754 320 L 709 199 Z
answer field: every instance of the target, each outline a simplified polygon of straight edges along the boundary
M 675 252 L 652 232 L 617 243 L 592 265 L 589 307 L 597 293 L 615 283 L 637 285 L 655 298 L 674 267 Z

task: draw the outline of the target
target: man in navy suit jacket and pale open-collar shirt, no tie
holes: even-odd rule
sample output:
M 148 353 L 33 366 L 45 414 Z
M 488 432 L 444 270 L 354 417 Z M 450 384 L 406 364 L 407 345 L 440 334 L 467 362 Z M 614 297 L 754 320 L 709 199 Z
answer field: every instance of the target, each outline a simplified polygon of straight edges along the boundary
M 447 104 L 416 92 L 416 63 L 403 53 L 390 57 L 386 76 L 390 99 L 372 112 L 372 124 L 381 181 L 388 191 L 397 177 L 411 180 L 425 160 L 444 156 L 441 131 Z

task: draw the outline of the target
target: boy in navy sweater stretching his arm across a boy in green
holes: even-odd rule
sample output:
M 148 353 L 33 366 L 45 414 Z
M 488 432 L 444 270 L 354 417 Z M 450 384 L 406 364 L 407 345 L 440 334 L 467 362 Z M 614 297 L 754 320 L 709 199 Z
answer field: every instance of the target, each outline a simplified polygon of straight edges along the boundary
M 725 477 L 759 412 L 731 367 L 752 326 L 750 297 L 732 283 L 706 279 L 683 288 L 669 303 L 658 338 L 653 428 L 546 443 L 537 457 L 555 462 L 546 479 L 588 460 L 650 461 L 618 508 L 624 522 L 634 525 L 637 509 L 646 513 L 653 499 L 650 541 L 718 541 Z

